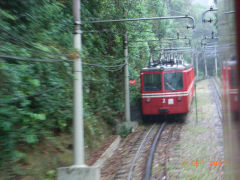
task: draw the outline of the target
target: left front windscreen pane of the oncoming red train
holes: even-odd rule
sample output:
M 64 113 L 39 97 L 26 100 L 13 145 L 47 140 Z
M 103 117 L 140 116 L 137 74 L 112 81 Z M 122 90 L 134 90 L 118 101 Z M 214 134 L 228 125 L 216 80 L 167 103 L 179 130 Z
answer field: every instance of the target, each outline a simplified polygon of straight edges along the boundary
M 161 74 L 144 75 L 144 91 L 160 91 L 162 89 Z

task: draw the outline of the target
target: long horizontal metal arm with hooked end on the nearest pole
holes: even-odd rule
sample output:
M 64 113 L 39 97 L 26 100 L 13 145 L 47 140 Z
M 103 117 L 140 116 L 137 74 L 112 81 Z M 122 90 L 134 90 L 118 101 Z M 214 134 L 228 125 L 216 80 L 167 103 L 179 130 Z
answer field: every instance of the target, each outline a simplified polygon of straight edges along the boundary
M 97 23 L 117 23 L 117 22 L 129 22 L 129 21 L 149 21 L 149 20 L 168 20 L 168 19 L 190 19 L 193 25 L 187 26 L 187 28 L 195 28 L 195 19 L 192 16 L 163 16 L 163 17 L 149 17 L 149 18 L 132 18 L 132 19 L 112 19 L 112 20 L 96 20 L 96 21 L 82 21 L 75 22 L 75 24 L 97 24 Z

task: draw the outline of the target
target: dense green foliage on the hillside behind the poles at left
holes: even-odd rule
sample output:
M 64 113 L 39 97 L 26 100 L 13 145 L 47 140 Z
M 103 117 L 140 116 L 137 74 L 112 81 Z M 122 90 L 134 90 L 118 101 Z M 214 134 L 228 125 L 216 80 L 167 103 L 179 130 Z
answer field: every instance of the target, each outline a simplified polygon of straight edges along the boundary
M 125 18 L 124 10 L 126 17 L 135 18 L 181 15 L 179 11 L 186 13 L 191 8 L 190 0 L 131 3 L 90 0 L 82 1 L 81 14 L 83 21 L 91 21 Z M 0 1 L 0 16 L 0 167 L 13 167 L 26 156 L 21 147 L 33 147 L 47 136 L 72 131 L 73 75 L 69 61 L 75 51 L 72 48 L 72 2 Z M 131 22 L 82 27 L 86 31 L 82 36 L 82 57 L 85 63 L 84 119 L 88 146 L 103 140 L 123 119 L 121 65 L 124 63 L 122 34 L 125 30 L 128 30 L 129 41 L 173 37 L 177 32 L 188 35 L 183 22 Z M 88 32 L 103 29 L 111 31 Z M 148 63 L 150 50 L 158 48 L 159 42 L 131 43 L 129 46 L 132 46 L 129 48 L 130 78 L 138 79 L 140 69 Z M 22 60 L 7 55 L 22 57 Z M 31 61 L 34 59 L 50 62 Z M 109 65 L 119 66 L 109 68 Z M 138 94 L 139 86 L 131 87 L 132 101 L 137 100 Z

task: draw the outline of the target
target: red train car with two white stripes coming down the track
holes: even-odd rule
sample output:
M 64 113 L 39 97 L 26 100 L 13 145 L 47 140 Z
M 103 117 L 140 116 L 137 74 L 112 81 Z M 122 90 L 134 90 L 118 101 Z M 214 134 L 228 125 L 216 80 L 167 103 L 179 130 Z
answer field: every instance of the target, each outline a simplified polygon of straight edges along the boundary
M 142 115 L 186 114 L 194 95 L 189 64 L 160 63 L 141 72 Z

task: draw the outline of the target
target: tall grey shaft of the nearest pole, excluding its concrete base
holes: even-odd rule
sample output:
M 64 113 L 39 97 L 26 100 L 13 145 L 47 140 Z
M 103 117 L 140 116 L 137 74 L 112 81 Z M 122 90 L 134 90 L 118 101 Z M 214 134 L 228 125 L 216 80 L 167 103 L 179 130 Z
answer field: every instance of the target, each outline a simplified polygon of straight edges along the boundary
M 81 1 L 73 0 L 74 17 L 74 48 L 81 53 Z M 83 87 L 82 87 L 82 59 L 79 54 L 74 59 L 74 95 L 73 95 L 73 130 L 74 130 L 74 165 L 84 166 L 84 132 L 83 132 Z

